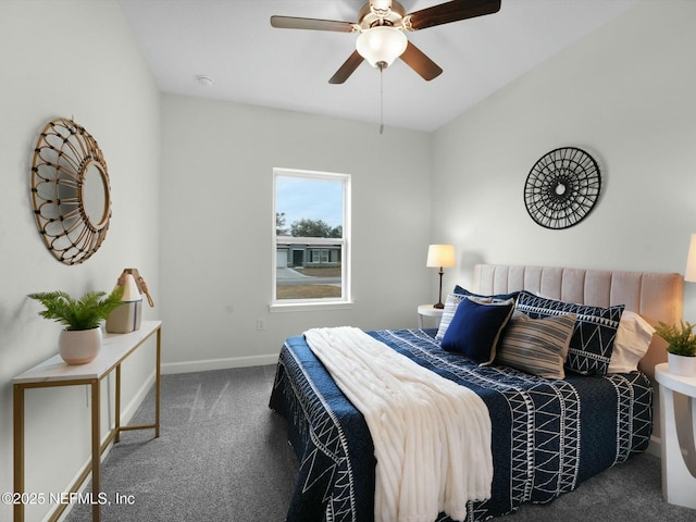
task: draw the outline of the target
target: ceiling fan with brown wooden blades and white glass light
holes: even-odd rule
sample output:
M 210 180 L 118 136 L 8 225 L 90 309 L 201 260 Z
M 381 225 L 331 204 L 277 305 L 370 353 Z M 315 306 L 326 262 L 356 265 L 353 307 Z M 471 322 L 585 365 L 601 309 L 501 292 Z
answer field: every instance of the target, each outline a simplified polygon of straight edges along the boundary
M 500 0 L 453 0 L 407 14 L 396 0 L 370 0 L 360 9 L 358 22 L 271 16 L 271 25 L 282 29 L 359 33 L 356 50 L 331 77 L 330 84 L 346 82 L 363 60 L 382 71 L 397 58 L 401 58 L 423 79 L 431 80 L 443 70 L 411 44 L 405 32 L 493 14 L 499 10 Z

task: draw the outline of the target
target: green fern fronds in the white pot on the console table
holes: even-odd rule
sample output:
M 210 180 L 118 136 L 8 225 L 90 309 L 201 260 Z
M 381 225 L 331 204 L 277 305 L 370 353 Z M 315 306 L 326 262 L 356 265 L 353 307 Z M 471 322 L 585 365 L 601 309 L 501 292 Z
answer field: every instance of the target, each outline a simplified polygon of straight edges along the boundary
M 28 297 L 40 301 L 46 310 L 39 315 L 52 319 L 66 326 L 66 330 L 91 330 L 115 310 L 123 301 L 123 287 L 119 286 L 107 297 L 105 291 L 88 291 L 75 300 L 64 291 L 45 291 L 29 294 Z

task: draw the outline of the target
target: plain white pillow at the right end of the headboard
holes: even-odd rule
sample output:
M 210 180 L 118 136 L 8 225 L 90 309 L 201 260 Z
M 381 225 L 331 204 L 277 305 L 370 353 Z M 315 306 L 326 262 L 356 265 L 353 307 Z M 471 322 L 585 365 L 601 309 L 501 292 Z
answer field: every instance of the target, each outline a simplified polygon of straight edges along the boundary
M 624 310 L 619 322 L 607 373 L 630 373 L 648 351 L 655 328 L 635 312 Z

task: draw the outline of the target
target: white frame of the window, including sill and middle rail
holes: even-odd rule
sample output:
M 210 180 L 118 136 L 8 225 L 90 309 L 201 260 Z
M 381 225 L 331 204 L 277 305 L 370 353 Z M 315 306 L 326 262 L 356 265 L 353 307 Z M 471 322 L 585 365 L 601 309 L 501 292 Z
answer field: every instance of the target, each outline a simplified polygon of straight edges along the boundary
M 277 282 L 275 279 L 276 269 L 277 269 L 277 236 L 276 236 L 276 181 L 278 176 L 283 177 L 299 177 L 303 179 L 323 179 L 331 182 L 341 182 L 344 186 L 344 215 L 343 215 L 343 237 L 340 238 L 323 238 L 316 237 L 312 238 L 312 243 L 315 244 L 331 244 L 336 245 L 340 244 L 341 249 L 341 297 L 336 298 L 321 298 L 321 299 L 277 299 L 276 288 Z M 350 226 L 351 226 L 351 187 L 350 187 L 351 176 L 350 174 L 339 174 L 334 172 L 320 172 L 320 171 L 306 171 L 298 169 L 285 169 L 285 167 L 274 167 L 273 169 L 273 214 L 272 214 L 272 237 L 271 241 L 273 246 L 273 253 L 271 256 L 272 259 L 272 268 L 273 272 L 271 274 L 272 277 L 272 296 L 271 296 L 271 304 L 269 306 L 269 310 L 271 312 L 288 312 L 288 311 L 299 311 L 299 310 L 331 310 L 331 309 L 344 309 L 352 307 L 352 298 L 351 298 L 351 241 L 350 241 Z M 293 245 L 293 244 L 307 244 L 307 238 L 299 237 L 283 237 L 282 244 L 284 245 Z

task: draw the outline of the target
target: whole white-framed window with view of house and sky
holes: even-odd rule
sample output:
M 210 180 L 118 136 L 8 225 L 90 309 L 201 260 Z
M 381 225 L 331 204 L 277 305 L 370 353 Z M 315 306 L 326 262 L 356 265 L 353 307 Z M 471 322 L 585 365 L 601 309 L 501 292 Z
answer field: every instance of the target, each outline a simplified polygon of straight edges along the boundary
M 350 302 L 350 176 L 273 170 L 272 309 Z

